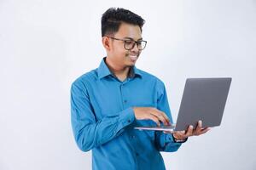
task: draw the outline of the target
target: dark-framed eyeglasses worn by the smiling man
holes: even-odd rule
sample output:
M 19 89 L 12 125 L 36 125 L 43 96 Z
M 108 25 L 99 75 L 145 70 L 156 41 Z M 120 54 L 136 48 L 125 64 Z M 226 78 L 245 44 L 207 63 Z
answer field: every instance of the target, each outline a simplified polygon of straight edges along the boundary
M 131 50 L 132 48 L 134 48 L 135 44 L 137 44 L 138 50 L 143 50 L 147 45 L 147 41 L 144 41 L 144 40 L 135 41 L 135 40 L 119 39 L 119 38 L 115 38 L 115 37 L 109 37 L 109 38 L 111 38 L 113 40 L 125 42 L 124 48 L 127 50 Z

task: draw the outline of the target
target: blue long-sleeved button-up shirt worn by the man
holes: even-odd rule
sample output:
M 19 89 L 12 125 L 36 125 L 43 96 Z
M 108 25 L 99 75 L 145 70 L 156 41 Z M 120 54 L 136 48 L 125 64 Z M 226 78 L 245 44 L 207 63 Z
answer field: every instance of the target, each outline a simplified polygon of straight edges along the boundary
M 138 121 L 135 106 L 164 111 L 172 122 L 164 83 L 135 66 L 120 82 L 102 59 L 96 70 L 73 82 L 73 134 L 80 150 L 92 150 L 93 169 L 166 169 L 160 151 L 174 152 L 181 144 L 171 134 L 134 129 L 156 125 L 151 120 Z

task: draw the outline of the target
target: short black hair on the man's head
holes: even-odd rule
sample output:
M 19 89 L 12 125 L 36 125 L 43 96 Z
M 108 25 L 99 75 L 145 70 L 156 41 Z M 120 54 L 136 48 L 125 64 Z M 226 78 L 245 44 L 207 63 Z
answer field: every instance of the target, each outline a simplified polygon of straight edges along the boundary
M 119 31 L 119 26 L 122 22 L 139 26 L 141 31 L 143 31 L 142 28 L 145 20 L 125 8 L 108 8 L 102 14 L 102 37 Z

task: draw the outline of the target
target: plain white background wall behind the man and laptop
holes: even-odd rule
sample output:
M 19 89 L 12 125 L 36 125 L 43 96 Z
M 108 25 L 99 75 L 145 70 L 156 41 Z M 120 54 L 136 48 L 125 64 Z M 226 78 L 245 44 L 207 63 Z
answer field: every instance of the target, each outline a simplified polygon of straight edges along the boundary
M 76 146 L 70 85 L 105 56 L 101 16 L 140 14 L 137 67 L 165 82 L 172 116 L 186 77 L 233 77 L 223 122 L 163 153 L 166 169 L 256 169 L 256 1 L 0 0 L 0 169 L 90 169 Z

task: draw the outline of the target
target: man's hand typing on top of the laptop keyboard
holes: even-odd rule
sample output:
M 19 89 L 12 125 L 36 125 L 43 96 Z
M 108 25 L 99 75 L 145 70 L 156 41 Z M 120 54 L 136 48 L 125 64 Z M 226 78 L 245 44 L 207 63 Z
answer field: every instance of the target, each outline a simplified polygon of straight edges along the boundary
M 154 107 L 133 107 L 133 111 L 137 120 L 152 120 L 158 126 L 160 126 L 160 122 L 163 122 L 166 126 L 170 125 L 168 116 Z

